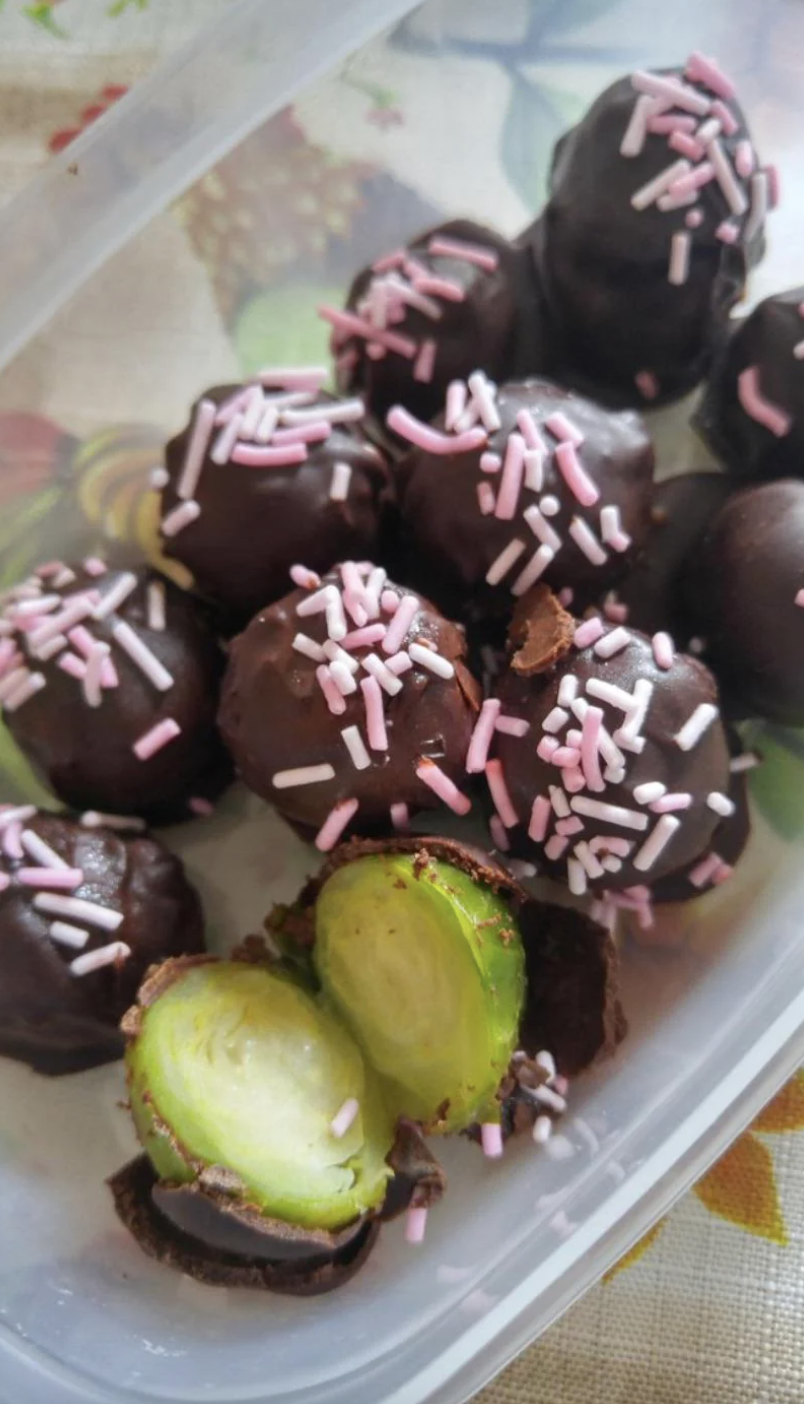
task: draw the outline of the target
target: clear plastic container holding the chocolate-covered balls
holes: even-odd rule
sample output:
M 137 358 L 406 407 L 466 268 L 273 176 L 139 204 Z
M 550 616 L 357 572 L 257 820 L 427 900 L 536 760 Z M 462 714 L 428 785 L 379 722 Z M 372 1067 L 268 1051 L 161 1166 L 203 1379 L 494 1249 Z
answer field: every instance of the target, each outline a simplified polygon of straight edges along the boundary
M 793 65 L 804 10 L 450 0 L 372 38 L 406 10 L 393 0 L 227 7 L 4 212 L 1 583 L 53 549 L 104 535 L 147 542 L 147 469 L 205 380 L 320 354 L 310 309 L 321 289 L 441 209 L 515 232 L 540 198 L 560 128 L 638 63 L 697 46 L 737 72 L 784 188 L 755 291 L 796 281 L 784 234 L 801 201 Z M 278 114 L 222 160 L 292 98 L 293 117 Z M 167 206 L 191 181 L 180 223 Z M 655 418 L 665 472 L 706 462 L 683 428 L 688 409 Z M 528 1144 L 488 1164 L 449 1146 L 452 1186 L 425 1244 L 386 1231 L 365 1272 L 331 1297 L 212 1290 L 146 1259 L 102 1184 L 133 1150 L 115 1105 L 119 1067 L 49 1082 L 0 1066 L 0 1400 L 459 1404 L 484 1384 L 664 1213 L 804 1054 L 804 743 L 776 731 L 762 744 L 756 833 L 738 878 L 668 913 L 658 935 L 671 951 L 626 941 L 631 1035 L 572 1088 L 567 1158 Z M 31 793 L 0 746 L 6 792 Z M 173 837 L 220 943 L 293 893 L 311 863 L 243 796 Z

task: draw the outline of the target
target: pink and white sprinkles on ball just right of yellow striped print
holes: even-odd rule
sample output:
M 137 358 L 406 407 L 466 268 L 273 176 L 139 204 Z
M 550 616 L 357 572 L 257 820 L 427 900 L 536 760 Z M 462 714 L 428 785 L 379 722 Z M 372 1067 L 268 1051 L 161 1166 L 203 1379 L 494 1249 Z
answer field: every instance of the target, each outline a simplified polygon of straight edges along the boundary
M 217 468 L 295 468 L 307 461 L 310 446 L 326 444 L 335 425 L 362 420 L 362 400 L 321 399 L 327 376 L 326 366 L 271 368 L 222 404 L 199 400 L 175 484 L 180 503 L 163 517 L 163 536 L 177 536 L 201 517 L 196 491 L 208 461 Z M 347 500 L 351 476 L 349 463 L 333 465 L 331 501 Z M 157 469 L 152 483 L 164 487 L 167 480 Z

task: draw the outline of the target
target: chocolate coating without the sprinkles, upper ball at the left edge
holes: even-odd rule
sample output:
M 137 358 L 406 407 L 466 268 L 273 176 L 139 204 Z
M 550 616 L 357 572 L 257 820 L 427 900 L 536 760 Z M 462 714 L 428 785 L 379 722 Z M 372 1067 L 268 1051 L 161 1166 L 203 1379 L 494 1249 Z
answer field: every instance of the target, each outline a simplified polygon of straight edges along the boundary
M 42 660 L 29 651 L 36 635 L 18 626 L 14 642 L 28 656 L 31 668 L 45 678 L 45 687 L 14 710 L 4 705 L 3 719 L 45 783 L 66 804 L 168 823 L 187 819 L 191 799 L 215 797 L 230 779 L 232 769 L 215 727 L 225 658 L 196 600 L 153 570 L 135 574 L 136 587 L 114 614 L 83 621 L 95 640 L 109 646 L 119 685 L 104 687 L 100 706 L 90 706 L 81 681 L 62 667 L 72 650 L 65 644 Z M 97 590 L 102 601 L 122 577 L 118 570 L 95 577 L 76 566 L 74 578 L 62 594 L 67 598 Z M 164 585 L 164 629 L 147 623 L 147 592 L 153 583 Z M 51 592 L 52 583 L 46 580 L 43 588 Z M 6 618 L 10 609 L 13 602 L 6 605 Z M 116 642 L 114 628 L 119 622 L 133 629 L 167 668 L 173 681 L 166 689 L 159 689 Z M 77 644 L 76 657 L 80 658 Z M 140 761 L 135 743 L 167 719 L 181 731 Z

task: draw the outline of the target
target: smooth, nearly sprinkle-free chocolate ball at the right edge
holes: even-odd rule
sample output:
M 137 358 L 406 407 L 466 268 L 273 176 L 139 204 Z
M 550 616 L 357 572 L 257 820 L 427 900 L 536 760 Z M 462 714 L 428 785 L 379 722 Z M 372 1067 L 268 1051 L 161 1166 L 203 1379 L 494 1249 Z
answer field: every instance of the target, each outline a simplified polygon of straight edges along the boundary
M 804 483 L 735 493 L 685 573 L 706 660 L 738 715 L 804 723 Z

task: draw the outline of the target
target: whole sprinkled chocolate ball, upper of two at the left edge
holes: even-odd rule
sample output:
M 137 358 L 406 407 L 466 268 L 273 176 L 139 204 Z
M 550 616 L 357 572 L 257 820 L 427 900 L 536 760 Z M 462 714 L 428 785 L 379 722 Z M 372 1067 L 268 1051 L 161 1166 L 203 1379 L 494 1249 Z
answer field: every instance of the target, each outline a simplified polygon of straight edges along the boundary
M 225 658 L 191 595 L 153 570 L 52 562 L 7 594 L 1 622 L 3 719 L 66 804 L 168 823 L 227 783 Z

